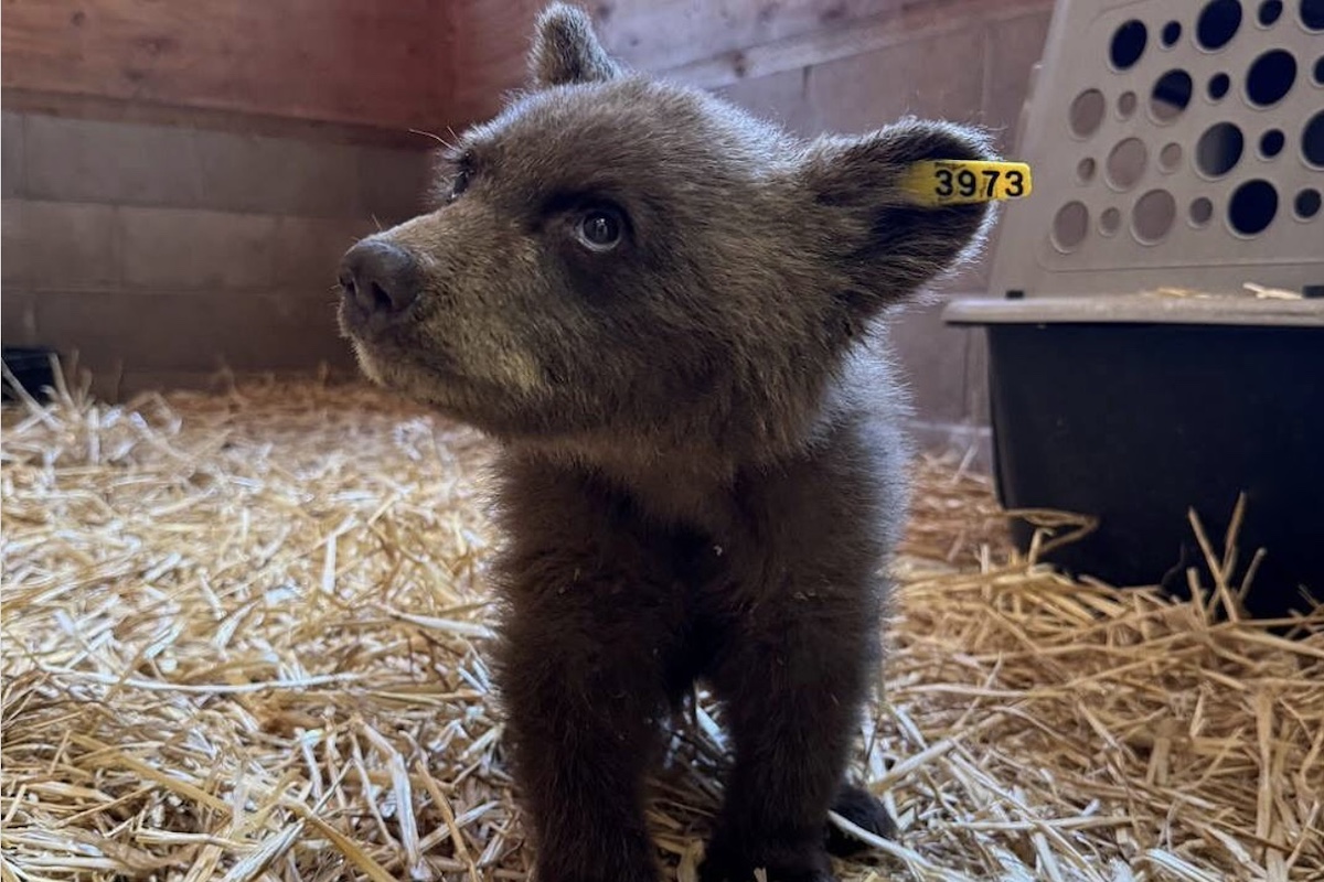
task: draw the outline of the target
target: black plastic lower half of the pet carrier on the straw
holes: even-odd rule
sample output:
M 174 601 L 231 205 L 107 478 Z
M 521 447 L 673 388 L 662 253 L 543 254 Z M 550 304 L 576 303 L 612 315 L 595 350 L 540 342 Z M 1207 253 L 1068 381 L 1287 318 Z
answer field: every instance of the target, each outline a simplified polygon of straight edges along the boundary
M 1204 569 L 1188 510 L 1221 554 L 1245 492 L 1235 578 L 1267 553 L 1249 611 L 1305 610 L 1303 588 L 1324 600 L 1324 304 L 1258 307 L 1246 324 L 1152 300 L 1091 320 L 1108 315 L 1091 300 L 948 313 L 988 335 L 1000 501 L 1099 518 L 1047 555 L 1063 570 L 1181 594 L 1186 567 Z M 1033 528 L 1014 532 L 1027 547 Z

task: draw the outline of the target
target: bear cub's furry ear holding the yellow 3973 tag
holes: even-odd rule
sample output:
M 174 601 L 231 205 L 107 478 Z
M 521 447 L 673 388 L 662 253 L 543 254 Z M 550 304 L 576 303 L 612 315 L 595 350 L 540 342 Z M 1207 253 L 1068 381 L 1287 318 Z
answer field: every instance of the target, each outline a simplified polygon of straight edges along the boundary
M 853 299 L 873 309 L 894 303 L 952 270 L 976 250 L 988 204 L 925 208 L 902 190 L 920 160 L 997 159 L 978 130 L 904 119 L 857 138 L 814 140 L 800 165 L 829 258 L 845 270 Z

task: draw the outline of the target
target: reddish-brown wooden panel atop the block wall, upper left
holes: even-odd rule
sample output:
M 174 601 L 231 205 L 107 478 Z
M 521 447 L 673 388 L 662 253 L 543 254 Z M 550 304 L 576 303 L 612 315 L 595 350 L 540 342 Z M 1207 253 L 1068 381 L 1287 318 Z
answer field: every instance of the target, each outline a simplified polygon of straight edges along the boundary
M 450 29 L 429 0 L 5 0 L 3 82 L 36 93 L 298 119 L 448 115 Z

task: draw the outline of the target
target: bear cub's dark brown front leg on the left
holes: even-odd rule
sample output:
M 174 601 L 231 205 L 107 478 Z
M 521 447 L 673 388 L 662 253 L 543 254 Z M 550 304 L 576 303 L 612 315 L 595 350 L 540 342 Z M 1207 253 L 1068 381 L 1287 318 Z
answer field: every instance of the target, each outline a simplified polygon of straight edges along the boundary
M 654 882 L 646 778 L 683 676 L 673 540 L 573 471 L 507 463 L 496 682 L 539 882 Z

